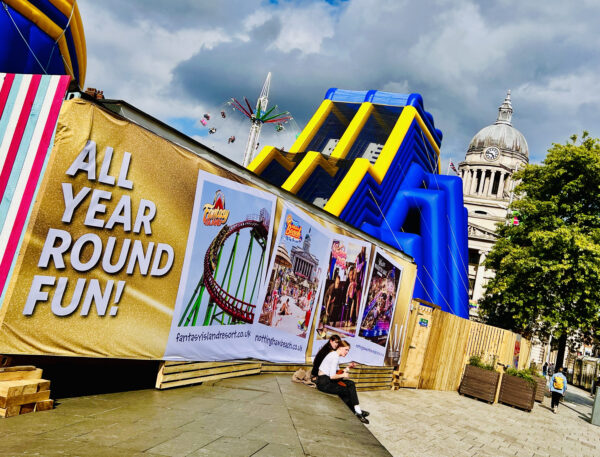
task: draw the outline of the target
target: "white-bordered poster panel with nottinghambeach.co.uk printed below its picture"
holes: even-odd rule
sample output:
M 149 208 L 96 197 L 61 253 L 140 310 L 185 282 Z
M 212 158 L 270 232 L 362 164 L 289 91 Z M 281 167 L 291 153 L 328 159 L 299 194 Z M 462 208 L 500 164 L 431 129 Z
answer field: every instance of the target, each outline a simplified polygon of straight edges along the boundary
M 330 245 L 329 231 L 298 208 L 284 205 L 255 323 L 256 357 L 272 362 L 305 360 Z

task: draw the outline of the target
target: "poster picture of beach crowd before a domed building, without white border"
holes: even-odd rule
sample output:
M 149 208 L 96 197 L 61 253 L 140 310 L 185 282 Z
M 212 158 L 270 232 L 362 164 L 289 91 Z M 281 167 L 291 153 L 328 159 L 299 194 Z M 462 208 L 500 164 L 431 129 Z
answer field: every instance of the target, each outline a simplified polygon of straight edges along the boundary
M 258 322 L 306 338 L 330 238 L 315 222 L 284 211 Z

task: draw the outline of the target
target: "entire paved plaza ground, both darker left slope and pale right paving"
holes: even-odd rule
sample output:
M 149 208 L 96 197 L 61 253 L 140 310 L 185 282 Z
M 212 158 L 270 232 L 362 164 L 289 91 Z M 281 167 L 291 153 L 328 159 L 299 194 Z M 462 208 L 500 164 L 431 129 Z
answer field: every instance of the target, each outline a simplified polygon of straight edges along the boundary
M 0 455 L 41 456 L 598 456 L 592 398 L 569 386 L 531 413 L 457 392 L 360 393 L 364 426 L 337 397 L 288 375 L 165 391 L 58 399 L 52 411 L 0 420 Z

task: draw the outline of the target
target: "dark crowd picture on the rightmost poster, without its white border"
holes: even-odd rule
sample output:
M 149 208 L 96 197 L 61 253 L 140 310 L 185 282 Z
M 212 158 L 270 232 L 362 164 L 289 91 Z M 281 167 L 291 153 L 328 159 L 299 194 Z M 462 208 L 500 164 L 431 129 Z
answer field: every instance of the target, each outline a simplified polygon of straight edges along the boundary
M 400 274 L 401 269 L 391 260 L 375 253 L 359 336 L 379 346 L 385 347 L 390 332 Z

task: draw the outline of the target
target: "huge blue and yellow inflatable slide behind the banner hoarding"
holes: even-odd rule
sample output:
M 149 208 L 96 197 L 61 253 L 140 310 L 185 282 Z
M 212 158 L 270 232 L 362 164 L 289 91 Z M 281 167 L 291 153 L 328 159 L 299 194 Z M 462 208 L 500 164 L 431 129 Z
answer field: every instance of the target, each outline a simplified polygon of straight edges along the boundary
M 414 257 L 414 296 L 468 318 L 467 215 L 441 141 L 419 94 L 334 88 L 290 151 L 248 169 Z

